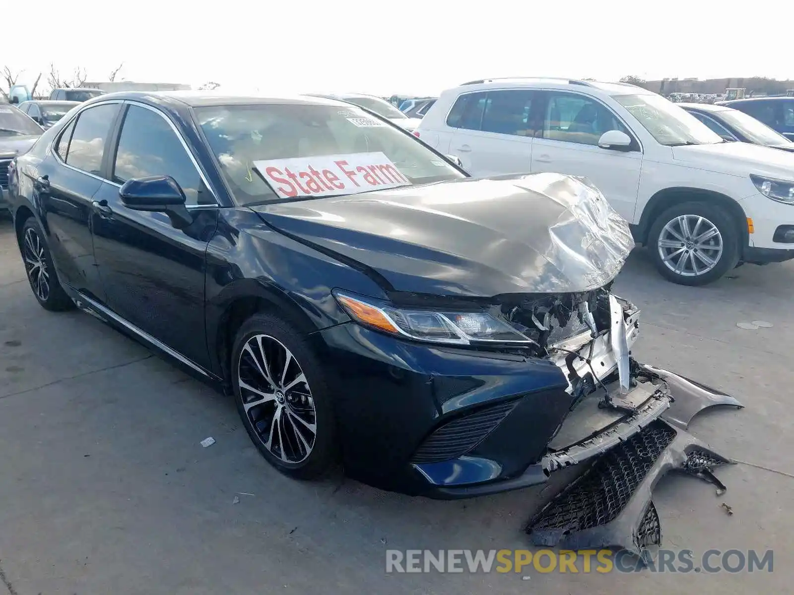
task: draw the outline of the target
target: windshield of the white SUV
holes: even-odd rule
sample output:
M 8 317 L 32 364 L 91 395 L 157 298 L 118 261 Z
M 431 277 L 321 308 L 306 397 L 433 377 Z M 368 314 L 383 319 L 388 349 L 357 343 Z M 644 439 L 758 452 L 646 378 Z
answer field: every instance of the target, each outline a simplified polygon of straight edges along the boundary
M 716 132 L 685 109 L 661 95 L 615 95 L 659 144 L 676 147 L 682 144 L 716 144 L 724 142 Z

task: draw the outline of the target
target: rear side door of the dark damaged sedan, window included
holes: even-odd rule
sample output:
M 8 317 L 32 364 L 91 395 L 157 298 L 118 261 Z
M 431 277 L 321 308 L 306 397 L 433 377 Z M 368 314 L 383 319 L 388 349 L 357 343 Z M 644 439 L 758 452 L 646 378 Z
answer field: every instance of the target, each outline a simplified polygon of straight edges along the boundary
M 102 186 L 102 161 L 121 103 L 83 109 L 38 167 L 34 187 L 61 282 L 104 301 L 91 240 L 91 202 Z

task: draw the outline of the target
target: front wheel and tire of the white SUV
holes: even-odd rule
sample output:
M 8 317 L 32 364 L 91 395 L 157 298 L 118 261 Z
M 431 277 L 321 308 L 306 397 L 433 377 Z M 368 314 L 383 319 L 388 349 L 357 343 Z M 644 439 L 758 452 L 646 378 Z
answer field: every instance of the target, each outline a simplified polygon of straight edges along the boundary
M 648 234 L 651 259 L 663 277 L 680 285 L 716 281 L 738 262 L 738 232 L 718 205 L 684 202 L 657 217 Z

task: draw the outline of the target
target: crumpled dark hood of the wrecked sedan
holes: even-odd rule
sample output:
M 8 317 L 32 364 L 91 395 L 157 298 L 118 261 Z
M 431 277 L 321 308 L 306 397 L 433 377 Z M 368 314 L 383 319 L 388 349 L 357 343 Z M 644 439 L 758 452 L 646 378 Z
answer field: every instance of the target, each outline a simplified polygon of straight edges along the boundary
M 269 225 L 377 271 L 391 287 L 491 297 L 593 290 L 634 248 L 629 225 L 580 178 L 464 178 L 253 206 Z

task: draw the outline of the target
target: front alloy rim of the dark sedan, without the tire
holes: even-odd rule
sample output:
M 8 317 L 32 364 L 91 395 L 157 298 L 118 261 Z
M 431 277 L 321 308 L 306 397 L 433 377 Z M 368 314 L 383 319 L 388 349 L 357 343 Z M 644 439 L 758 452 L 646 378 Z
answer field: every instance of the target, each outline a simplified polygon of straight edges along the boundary
M 283 463 L 302 463 L 317 437 L 317 412 L 303 369 L 268 335 L 245 342 L 237 363 L 245 415 L 264 447 Z

